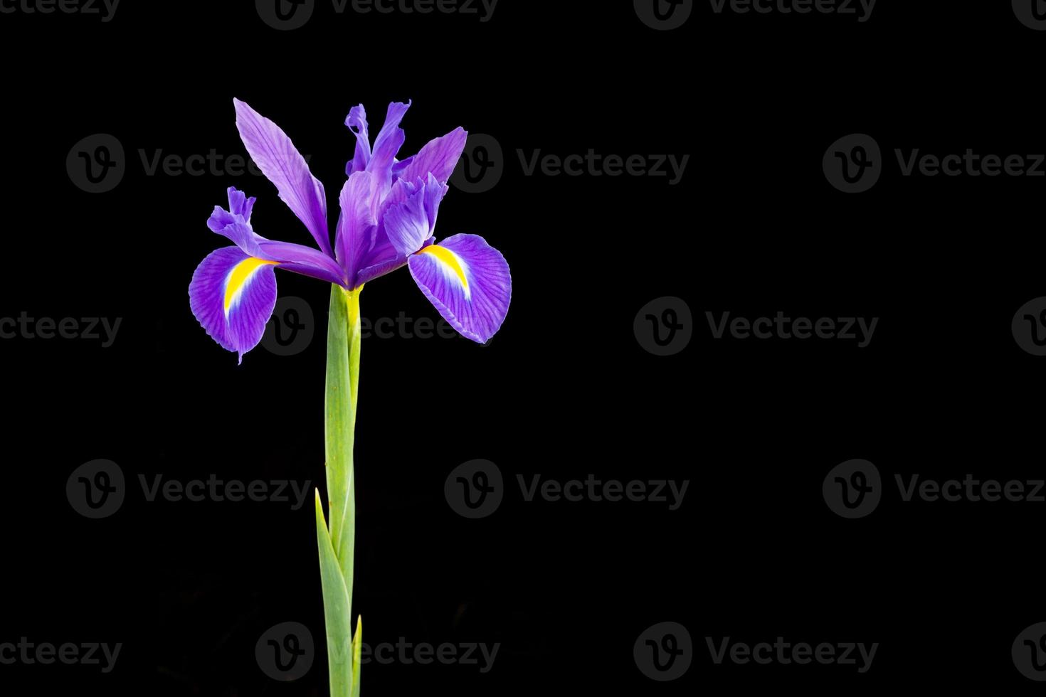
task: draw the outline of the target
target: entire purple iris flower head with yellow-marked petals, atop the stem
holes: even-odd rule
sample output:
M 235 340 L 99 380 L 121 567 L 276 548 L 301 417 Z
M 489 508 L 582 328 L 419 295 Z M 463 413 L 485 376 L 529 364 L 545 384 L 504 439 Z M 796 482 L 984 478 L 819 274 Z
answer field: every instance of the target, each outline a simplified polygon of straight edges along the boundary
M 356 153 L 345 170 L 341 214 L 331 247 L 323 184 L 279 126 L 234 99 L 236 129 L 248 154 L 276 185 L 318 249 L 268 239 L 254 232 L 254 198 L 230 187 L 229 208 L 214 207 L 207 226 L 233 247 L 211 252 L 189 284 L 192 313 L 210 336 L 229 351 L 257 346 L 276 304 L 276 269 L 337 283 L 356 292 L 403 265 L 436 310 L 463 336 L 485 343 L 508 312 L 511 276 L 504 257 L 477 235 L 457 234 L 434 243 L 433 232 L 447 180 L 468 134 L 456 129 L 405 160 L 400 121 L 410 103 L 392 102 L 373 144 L 362 104 L 345 125 L 356 136 Z

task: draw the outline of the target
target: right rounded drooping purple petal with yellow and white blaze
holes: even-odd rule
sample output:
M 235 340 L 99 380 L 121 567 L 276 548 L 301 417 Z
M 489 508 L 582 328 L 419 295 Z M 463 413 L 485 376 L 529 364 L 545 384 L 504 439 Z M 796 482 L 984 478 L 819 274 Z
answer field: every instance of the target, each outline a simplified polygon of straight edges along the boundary
M 425 297 L 458 332 L 486 343 L 508 313 L 513 279 L 501 252 L 478 235 L 452 235 L 408 259 Z

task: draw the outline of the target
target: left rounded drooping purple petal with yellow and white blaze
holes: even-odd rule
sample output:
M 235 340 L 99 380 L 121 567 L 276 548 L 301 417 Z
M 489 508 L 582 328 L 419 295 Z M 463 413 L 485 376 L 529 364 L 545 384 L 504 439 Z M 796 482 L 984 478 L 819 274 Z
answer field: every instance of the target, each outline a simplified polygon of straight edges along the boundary
M 257 346 L 276 305 L 274 263 L 236 247 L 207 255 L 192 274 L 189 307 L 200 325 L 223 348 L 244 354 Z

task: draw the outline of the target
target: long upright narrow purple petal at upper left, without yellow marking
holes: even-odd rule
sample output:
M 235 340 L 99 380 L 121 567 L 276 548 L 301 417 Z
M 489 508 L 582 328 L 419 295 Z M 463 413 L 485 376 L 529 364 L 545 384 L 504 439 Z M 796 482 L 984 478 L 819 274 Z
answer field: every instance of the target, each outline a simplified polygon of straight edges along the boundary
M 305 224 L 320 250 L 333 256 L 323 184 L 312 176 L 305 159 L 278 125 L 246 102 L 232 101 L 236 108 L 236 129 L 254 164 L 276 185 L 279 198 Z

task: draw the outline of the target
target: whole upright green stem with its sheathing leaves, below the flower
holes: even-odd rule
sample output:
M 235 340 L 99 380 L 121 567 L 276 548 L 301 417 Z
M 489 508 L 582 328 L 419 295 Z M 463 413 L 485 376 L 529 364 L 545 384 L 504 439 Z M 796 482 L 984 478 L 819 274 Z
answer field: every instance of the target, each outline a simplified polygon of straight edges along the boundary
M 323 586 L 331 697 L 360 694 L 361 623 L 353 637 L 353 557 L 356 548 L 356 486 L 353 443 L 360 382 L 360 292 L 331 287 L 324 399 L 327 510 L 317 491 L 316 535 Z

